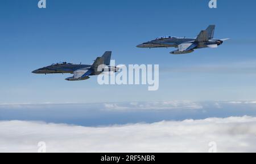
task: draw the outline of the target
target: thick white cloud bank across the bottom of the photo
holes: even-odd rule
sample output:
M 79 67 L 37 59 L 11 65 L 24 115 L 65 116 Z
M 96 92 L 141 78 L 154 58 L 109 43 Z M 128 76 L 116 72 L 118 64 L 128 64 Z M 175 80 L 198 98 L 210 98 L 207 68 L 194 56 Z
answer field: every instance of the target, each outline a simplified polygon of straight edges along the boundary
M 0 122 L 0 152 L 256 152 L 256 118 L 250 116 L 80 127 L 43 122 Z

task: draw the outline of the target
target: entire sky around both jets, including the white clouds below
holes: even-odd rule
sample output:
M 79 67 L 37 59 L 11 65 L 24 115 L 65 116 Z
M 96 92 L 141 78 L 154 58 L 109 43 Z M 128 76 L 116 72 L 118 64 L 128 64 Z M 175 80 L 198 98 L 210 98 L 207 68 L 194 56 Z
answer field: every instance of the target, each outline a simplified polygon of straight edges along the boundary
M 255 152 L 256 1 L 0 1 L 0 152 Z M 218 49 L 138 49 L 216 25 Z M 159 64 L 159 90 L 31 71 L 67 61 Z M 40 146 L 40 145 L 39 145 Z

